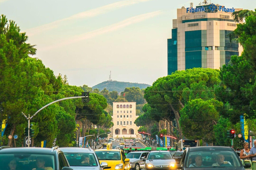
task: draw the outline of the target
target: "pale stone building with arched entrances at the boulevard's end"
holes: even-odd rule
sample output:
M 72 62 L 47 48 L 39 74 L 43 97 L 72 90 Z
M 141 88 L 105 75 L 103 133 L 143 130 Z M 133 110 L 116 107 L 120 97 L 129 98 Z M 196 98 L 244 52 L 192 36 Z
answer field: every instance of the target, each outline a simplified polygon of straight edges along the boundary
M 114 126 L 110 128 L 110 136 L 119 137 L 140 137 L 139 127 L 134 124 L 136 116 L 136 102 L 113 102 L 112 121 Z

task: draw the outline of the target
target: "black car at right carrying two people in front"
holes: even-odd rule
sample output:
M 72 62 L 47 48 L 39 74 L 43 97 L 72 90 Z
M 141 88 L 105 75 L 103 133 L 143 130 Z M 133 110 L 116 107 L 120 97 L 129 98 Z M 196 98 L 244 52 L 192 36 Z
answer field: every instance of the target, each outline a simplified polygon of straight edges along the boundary
M 177 165 L 177 169 L 182 170 L 244 170 L 250 167 L 250 163 L 243 166 L 234 149 L 226 146 L 187 147 Z

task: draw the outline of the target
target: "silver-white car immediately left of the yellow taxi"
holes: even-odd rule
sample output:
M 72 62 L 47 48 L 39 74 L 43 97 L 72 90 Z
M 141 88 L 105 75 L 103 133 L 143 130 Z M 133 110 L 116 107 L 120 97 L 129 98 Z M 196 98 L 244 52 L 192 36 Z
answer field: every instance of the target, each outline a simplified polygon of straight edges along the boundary
M 60 147 L 59 150 L 64 153 L 70 167 L 74 170 L 103 170 L 108 166 L 106 162 L 100 164 L 95 152 L 90 147 Z

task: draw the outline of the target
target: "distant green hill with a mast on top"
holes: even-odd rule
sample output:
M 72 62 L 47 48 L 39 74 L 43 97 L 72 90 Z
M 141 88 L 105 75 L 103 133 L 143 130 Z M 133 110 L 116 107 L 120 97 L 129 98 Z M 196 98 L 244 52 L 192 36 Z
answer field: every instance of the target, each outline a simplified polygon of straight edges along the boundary
M 149 84 L 141 84 L 141 83 L 130 83 L 130 82 L 120 82 L 120 81 L 104 81 L 93 86 L 93 89 L 99 89 L 100 91 L 106 88 L 108 91 L 117 91 L 122 92 L 126 87 L 139 87 L 140 89 L 145 89 Z

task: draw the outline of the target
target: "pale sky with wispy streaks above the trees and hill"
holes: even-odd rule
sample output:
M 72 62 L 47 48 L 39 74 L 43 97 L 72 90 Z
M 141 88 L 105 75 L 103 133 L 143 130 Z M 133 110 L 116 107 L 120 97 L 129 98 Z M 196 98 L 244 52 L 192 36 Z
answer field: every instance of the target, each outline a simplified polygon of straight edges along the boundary
M 167 75 L 167 39 L 177 8 L 187 0 L 0 0 L 35 44 L 46 67 L 67 75 L 69 85 L 92 87 L 109 79 L 152 83 Z M 209 1 L 210 3 L 210 1 Z M 255 0 L 214 4 L 254 10 Z

